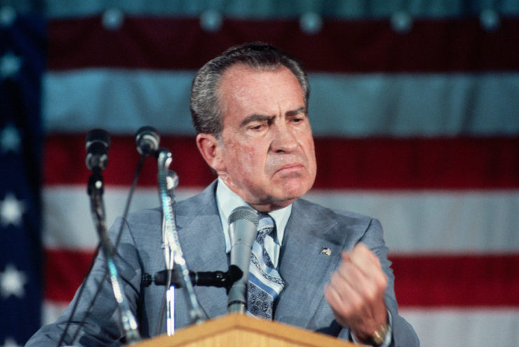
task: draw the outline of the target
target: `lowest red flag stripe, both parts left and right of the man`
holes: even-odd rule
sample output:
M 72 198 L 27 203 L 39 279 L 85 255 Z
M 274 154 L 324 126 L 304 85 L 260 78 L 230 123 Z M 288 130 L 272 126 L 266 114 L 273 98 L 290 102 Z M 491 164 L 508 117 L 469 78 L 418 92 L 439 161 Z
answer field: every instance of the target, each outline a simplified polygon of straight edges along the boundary
M 46 250 L 46 299 L 68 302 L 92 252 Z M 403 306 L 519 306 L 519 254 L 398 256 L 392 260 Z

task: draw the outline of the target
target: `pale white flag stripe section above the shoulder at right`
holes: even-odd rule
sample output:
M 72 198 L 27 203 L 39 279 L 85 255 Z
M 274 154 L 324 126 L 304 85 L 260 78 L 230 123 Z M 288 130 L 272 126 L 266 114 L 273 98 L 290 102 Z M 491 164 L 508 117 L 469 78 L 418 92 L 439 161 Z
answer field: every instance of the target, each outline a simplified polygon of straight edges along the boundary
M 307 198 L 378 218 L 392 253 L 518 250 L 519 190 L 312 191 Z

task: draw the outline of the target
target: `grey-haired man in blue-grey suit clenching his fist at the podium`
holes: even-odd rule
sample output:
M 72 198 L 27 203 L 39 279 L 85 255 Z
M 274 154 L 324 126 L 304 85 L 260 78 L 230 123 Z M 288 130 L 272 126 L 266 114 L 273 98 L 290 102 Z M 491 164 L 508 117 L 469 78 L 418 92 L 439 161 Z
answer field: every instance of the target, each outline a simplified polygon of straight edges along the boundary
M 196 143 L 218 179 L 175 205 L 188 267 L 227 269 L 228 216 L 235 207 L 249 205 L 268 213 L 275 225 L 275 232 L 261 241 L 265 262 L 282 283 L 279 297 L 268 308 L 274 320 L 359 344 L 417 346 L 413 328 L 398 315 L 380 223 L 299 199 L 312 187 L 317 171 L 308 97 L 300 64 L 262 43 L 230 48 L 198 71 L 191 90 Z M 130 215 L 116 258 L 143 337 L 165 332 L 164 325 L 157 326 L 163 289 L 141 283 L 142 274 L 164 269 L 160 221 L 158 209 Z M 112 235 L 121 222 L 112 227 Z M 99 257 L 92 278 L 83 285 L 73 323 L 83 315 L 103 274 L 104 260 Z M 225 290 L 201 287 L 195 292 L 208 318 L 226 314 Z M 69 312 L 42 327 L 28 346 L 57 341 Z M 175 323 L 177 328 L 189 324 L 179 290 Z M 64 339 L 67 344 L 73 334 L 71 329 Z M 105 281 L 75 341 L 111 346 L 120 344 L 121 338 L 118 312 Z

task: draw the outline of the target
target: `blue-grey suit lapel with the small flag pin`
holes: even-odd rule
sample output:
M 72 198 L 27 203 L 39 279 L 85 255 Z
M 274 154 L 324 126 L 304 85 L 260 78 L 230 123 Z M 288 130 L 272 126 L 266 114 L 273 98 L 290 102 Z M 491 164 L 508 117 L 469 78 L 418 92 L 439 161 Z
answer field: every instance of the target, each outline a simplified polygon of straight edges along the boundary
M 303 200 L 293 204 L 280 258 L 286 286 L 279 297 L 276 320 L 313 328 L 311 320 L 324 301 L 324 283 L 340 262 L 345 239 L 344 230 L 338 230 L 330 213 Z

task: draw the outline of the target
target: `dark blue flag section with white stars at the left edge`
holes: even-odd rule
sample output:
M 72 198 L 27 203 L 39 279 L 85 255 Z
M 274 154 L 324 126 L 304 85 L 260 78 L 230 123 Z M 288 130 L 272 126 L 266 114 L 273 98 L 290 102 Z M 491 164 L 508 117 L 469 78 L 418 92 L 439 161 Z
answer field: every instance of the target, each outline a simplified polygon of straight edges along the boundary
M 17 346 L 39 327 L 41 76 L 45 25 L 0 9 L 0 344 Z

